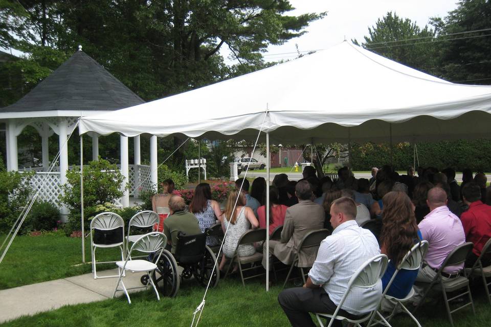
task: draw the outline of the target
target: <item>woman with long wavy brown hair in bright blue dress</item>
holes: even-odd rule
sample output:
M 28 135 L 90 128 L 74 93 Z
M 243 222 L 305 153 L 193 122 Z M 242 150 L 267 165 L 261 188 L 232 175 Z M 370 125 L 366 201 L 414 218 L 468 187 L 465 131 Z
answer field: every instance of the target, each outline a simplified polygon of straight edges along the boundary
M 416 224 L 413 204 L 404 192 L 389 192 L 383 198 L 384 215 L 380 236 L 381 253 L 389 257 L 389 266 L 382 277 L 385 289 L 396 267 L 415 243 L 422 239 Z M 387 295 L 405 298 L 411 291 L 418 270 L 401 269 L 395 276 Z

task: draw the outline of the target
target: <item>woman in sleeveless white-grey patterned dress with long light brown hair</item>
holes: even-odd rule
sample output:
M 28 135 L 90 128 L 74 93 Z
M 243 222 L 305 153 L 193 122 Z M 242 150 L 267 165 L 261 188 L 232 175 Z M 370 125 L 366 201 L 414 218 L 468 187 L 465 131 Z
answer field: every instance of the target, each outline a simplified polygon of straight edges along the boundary
M 242 234 L 249 229 L 259 226 L 254 212 L 250 207 L 245 206 L 244 193 L 235 189 L 230 191 L 225 212 L 221 219 L 221 227 L 227 231 L 224 242 L 224 255 L 220 262 L 220 270 L 224 269 L 226 258 L 232 258 L 235 248 L 239 243 Z M 228 230 L 227 230 L 228 228 Z M 249 256 L 256 253 L 256 248 L 252 244 L 240 245 L 237 249 L 238 256 Z

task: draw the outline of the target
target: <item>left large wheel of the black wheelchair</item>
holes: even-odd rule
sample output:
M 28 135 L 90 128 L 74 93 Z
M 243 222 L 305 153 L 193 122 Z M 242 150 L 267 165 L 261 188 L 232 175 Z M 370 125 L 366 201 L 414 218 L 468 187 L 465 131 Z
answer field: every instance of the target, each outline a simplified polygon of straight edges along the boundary
M 174 297 L 179 290 L 181 281 L 174 256 L 169 251 L 164 250 L 159 261 L 155 264 L 157 269 L 152 272 L 155 286 L 164 296 Z

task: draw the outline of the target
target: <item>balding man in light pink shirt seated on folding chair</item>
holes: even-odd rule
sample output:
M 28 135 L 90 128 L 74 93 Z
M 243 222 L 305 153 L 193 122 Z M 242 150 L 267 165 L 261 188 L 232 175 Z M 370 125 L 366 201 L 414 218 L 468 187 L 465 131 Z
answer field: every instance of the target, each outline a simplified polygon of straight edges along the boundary
M 431 189 L 428 191 L 427 204 L 430 213 L 425 216 L 418 227 L 423 240 L 428 241 L 430 247 L 416 281 L 430 283 L 447 255 L 456 246 L 465 242 L 465 233 L 460 219 L 447 206 L 447 192 L 438 187 Z M 457 277 L 463 267 L 463 264 L 460 264 L 443 269 L 441 274 L 443 283 Z M 423 290 L 424 287 L 414 286 L 416 292 L 414 302 L 421 299 Z

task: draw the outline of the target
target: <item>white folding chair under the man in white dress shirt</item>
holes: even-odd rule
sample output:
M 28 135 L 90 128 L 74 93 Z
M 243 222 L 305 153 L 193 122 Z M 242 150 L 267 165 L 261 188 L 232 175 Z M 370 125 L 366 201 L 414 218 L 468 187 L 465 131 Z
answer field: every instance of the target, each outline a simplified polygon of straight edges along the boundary
M 321 319 L 321 317 L 324 317 L 324 318 L 330 318 L 327 327 L 331 327 L 334 320 L 346 320 L 350 323 L 353 323 L 355 326 L 361 327 L 360 324 L 361 322 L 365 322 L 368 319 L 370 319 L 370 317 L 373 314 L 373 310 L 368 312 L 366 315 L 361 316 L 358 319 L 349 319 L 347 317 L 340 316 L 338 315 L 338 312 L 343 306 L 346 297 L 348 296 L 349 292 L 353 289 L 353 287 L 371 288 L 377 285 L 379 281 L 381 282 L 380 279 L 382 278 L 382 276 L 385 273 L 385 270 L 387 269 L 388 262 L 389 259 L 387 258 L 387 255 L 378 254 L 375 255 L 370 260 L 367 260 L 360 268 L 358 268 L 358 270 L 356 270 L 354 274 L 351 276 L 351 278 L 349 279 L 346 293 L 344 293 L 343 298 L 341 299 L 338 307 L 336 308 L 336 311 L 334 311 L 333 314 L 316 313 L 316 317 L 317 320 L 319 321 L 319 324 L 322 327 L 324 327 L 324 324 L 322 323 L 322 319 Z M 381 300 L 382 300 L 382 296 L 378 300 L 375 310 L 377 310 Z

